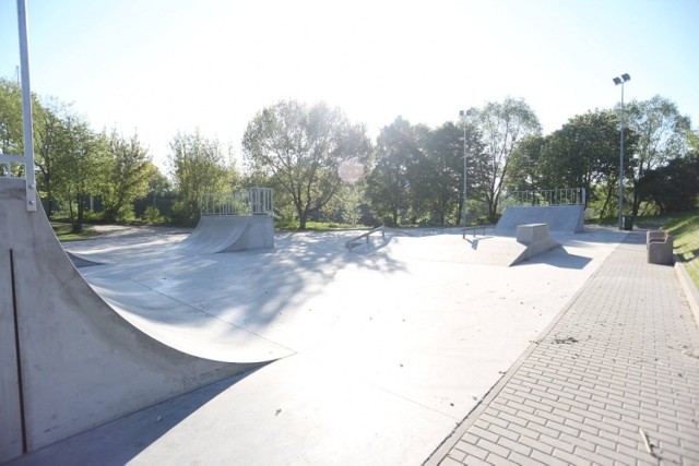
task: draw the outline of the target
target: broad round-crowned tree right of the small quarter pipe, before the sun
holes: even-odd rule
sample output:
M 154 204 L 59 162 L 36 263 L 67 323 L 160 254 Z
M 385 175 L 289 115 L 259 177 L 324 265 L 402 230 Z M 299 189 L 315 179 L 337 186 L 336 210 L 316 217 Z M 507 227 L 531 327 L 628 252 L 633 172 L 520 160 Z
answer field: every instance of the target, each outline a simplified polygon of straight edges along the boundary
M 248 123 L 242 148 L 249 170 L 271 178 L 289 196 L 305 229 L 309 214 L 322 210 L 342 187 L 340 164 L 350 158 L 365 163 L 371 145 L 366 129 L 351 124 L 340 109 L 283 100 Z

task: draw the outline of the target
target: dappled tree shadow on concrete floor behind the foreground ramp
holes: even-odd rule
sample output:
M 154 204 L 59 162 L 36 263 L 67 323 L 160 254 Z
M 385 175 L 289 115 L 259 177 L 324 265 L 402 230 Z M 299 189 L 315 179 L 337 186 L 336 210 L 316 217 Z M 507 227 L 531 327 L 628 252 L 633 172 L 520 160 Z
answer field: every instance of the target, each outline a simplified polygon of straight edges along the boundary
M 214 254 L 182 252 L 173 243 L 150 247 L 132 238 L 100 241 L 95 246 L 111 253 L 95 255 L 107 265 L 80 272 L 99 288 L 114 284 L 110 300 L 141 318 L 170 321 L 178 308 L 179 324 L 204 326 L 216 318 L 256 331 L 323 294 L 347 267 L 380 275 L 405 271 L 404 263 L 386 254 L 353 254 L 344 247 L 347 239 L 346 234 L 299 232 L 277 238 L 273 250 Z M 81 255 L 91 256 L 83 246 Z M 189 310 L 181 312 L 182 306 Z

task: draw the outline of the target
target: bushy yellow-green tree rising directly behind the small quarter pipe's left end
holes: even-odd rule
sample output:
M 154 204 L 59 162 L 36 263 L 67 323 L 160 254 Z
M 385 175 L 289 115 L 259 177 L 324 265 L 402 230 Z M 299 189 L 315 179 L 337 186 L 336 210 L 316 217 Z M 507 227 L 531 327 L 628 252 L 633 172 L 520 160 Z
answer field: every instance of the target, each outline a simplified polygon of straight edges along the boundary
M 193 225 L 199 220 L 205 193 L 230 192 L 234 189 L 235 167 L 226 164 L 218 141 L 204 138 L 199 130 L 175 135 L 168 163 L 180 198 L 174 211 L 186 224 Z

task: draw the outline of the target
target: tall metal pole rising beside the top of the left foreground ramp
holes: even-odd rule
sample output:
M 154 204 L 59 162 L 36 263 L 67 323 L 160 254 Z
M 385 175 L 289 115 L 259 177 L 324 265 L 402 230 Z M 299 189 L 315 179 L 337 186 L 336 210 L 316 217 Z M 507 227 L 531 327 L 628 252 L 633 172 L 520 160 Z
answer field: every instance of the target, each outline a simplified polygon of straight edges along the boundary
M 29 45 L 27 39 L 26 0 L 17 0 L 20 63 L 22 72 L 22 119 L 24 129 L 24 179 L 26 210 L 36 212 L 36 179 L 34 175 L 34 133 L 32 124 L 32 87 L 29 85 Z

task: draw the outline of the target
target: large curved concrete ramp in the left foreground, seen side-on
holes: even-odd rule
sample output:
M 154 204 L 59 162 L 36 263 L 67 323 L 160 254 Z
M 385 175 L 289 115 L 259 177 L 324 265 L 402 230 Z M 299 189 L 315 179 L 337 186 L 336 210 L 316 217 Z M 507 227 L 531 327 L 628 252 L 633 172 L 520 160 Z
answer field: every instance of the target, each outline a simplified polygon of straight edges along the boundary
M 39 204 L 40 205 L 40 204 Z M 87 285 L 24 180 L 0 179 L 0 463 L 249 370 L 176 350 Z

